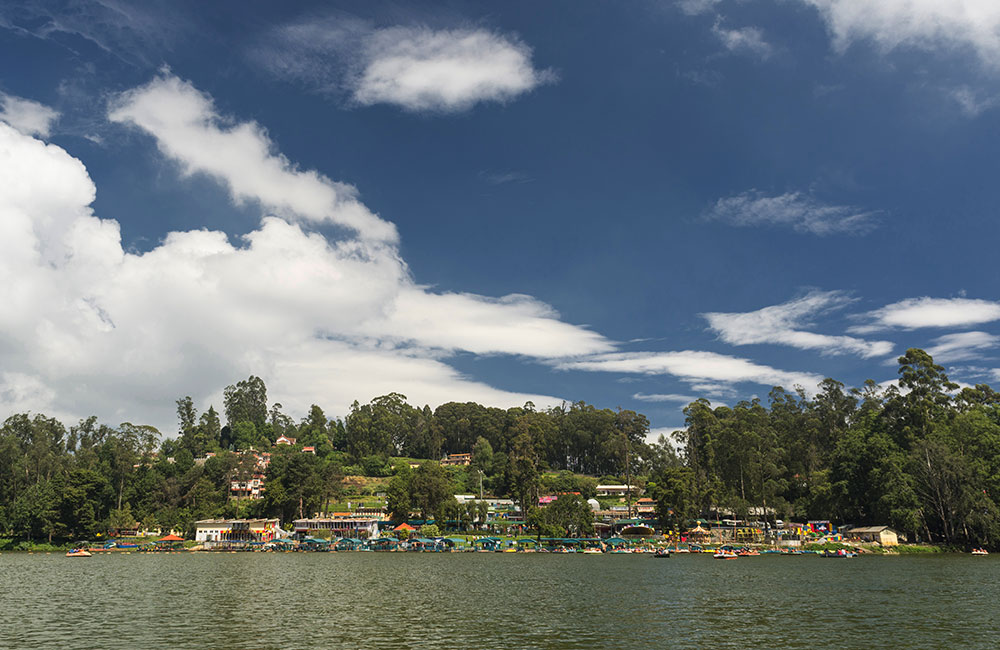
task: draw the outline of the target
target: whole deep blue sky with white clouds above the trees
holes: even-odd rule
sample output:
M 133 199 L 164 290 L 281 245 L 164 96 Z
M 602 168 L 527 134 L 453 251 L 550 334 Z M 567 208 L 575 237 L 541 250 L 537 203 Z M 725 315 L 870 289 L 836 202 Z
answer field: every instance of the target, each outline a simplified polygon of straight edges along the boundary
M 10 0 L 0 414 L 996 383 L 998 127 L 995 0 Z

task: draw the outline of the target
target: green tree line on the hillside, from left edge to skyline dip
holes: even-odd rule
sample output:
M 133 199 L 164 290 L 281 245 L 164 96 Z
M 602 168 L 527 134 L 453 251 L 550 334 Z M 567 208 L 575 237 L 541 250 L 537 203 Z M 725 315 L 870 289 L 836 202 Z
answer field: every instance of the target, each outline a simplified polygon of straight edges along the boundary
M 405 502 L 427 518 L 482 523 L 485 515 L 461 510 L 451 495 L 482 490 L 527 506 L 547 484 L 577 481 L 567 483 L 572 472 L 613 472 L 625 448 L 641 446 L 648 431 L 640 414 L 583 403 L 546 411 L 530 403 L 449 403 L 431 411 L 398 393 L 356 402 L 343 420 L 313 405 L 296 422 L 280 403 L 268 403 L 264 382 L 254 376 L 225 389 L 221 413 L 214 406 L 199 413 L 189 396 L 176 406 L 176 437 L 96 417 L 69 427 L 42 414 L 7 418 L 0 426 L 0 536 L 95 539 L 136 526 L 190 530 L 194 521 L 216 517 L 289 522 L 341 498 L 345 475 L 393 477 L 410 470 L 401 457 L 436 461 L 459 452 L 474 452 L 473 465 L 424 463 L 403 482 L 405 501 L 390 499 L 393 513 L 408 516 Z M 274 446 L 280 436 L 296 444 Z M 230 493 L 233 481 L 260 471 L 250 450 L 270 454 L 260 500 Z M 542 473 L 550 469 L 562 475 L 546 483 Z

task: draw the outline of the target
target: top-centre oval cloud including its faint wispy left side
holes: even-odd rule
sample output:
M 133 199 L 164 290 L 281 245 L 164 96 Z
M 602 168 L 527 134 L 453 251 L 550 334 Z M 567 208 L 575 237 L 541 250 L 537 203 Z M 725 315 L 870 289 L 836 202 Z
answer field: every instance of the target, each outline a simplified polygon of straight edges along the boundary
M 341 16 L 282 25 L 249 53 L 279 79 L 415 112 L 506 102 L 554 81 L 531 55 L 516 37 L 485 29 L 373 29 Z

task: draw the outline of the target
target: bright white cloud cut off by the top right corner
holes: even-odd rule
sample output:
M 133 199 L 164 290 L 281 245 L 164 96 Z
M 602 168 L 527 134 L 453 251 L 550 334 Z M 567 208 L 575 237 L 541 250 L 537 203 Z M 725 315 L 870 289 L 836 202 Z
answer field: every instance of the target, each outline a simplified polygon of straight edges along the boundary
M 968 50 L 1000 67 L 1000 3 L 996 0 L 801 0 L 815 7 L 845 50 L 868 40 L 896 48 Z

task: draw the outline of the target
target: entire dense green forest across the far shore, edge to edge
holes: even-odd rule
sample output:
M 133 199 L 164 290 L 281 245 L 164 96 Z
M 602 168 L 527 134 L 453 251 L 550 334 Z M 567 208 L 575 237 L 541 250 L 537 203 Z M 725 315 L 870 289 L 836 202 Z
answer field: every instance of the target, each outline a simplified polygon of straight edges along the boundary
M 582 402 L 432 411 L 392 393 L 355 402 L 343 420 L 313 406 L 296 422 L 281 404 L 268 405 L 257 377 L 226 388 L 221 414 L 177 400 L 173 437 L 93 417 L 67 428 L 17 414 L 0 428 L 0 534 L 83 539 L 135 523 L 184 530 L 217 516 L 288 521 L 342 498 L 344 476 L 364 475 L 391 477 L 396 519 L 419 512 L 481 520 L 451 495 L 482 489 L 528 506 L 538 529 L 560 513 L 560 521 L 577 517 L 584 532 L 579 499 L 547 515 L 534 507 L 537 496 L 587 498 L 599 481 L 631 480 L 657 499 L 669 529 L 698 517 L 830 519 L 889 524 L 911 539 L 956 546 L 995 543 L 1000 394 L 986 385 L 959 389 L 922 350 L 908 350 L 899 364 L 898 386 L 869 380 L 847 389 L 827 379 L 815 395 L 776 387 L 766 403 L 700 399 L 684 409 L 686 428 L 655 444 L 645 441 L 643 415 Z M 274 447 L 281 435 L 296 445 Z M 242 453 L 251 448 L 271 453 L 265 496 L 232 499 L 230 482 L 255 471 L 253 456 Z M 403 460 L 460 452 L 473 454 L 471 466 L 411 469 Z

